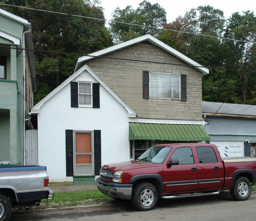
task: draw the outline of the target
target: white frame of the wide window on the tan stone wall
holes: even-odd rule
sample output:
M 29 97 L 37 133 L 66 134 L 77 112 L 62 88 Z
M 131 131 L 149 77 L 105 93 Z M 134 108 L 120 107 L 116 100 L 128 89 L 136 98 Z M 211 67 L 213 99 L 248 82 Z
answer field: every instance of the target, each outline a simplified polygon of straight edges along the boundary
M 157 96 L 156 97 L 153 97 L 152 94 L 151 94 L 151 74 L 157 74 Z M 171 75 L 171 98 L 161 98 L 159 97 L 159 90 L 158 90 L 158 87 L 159 87 L 159 75 L 160 74 L 169 74 Z M 173 76 L 178 76 L 179 77 L 179 98 L 173 98 Z M 163 72 L 149 72 L 149 97 L 152 98 L 152 99 L 169 99 L 169 100 L 180 100 L 181 99 L 181 85 L 180 85 L 180 74 L 171 74 L 171 73 L 163 73 Z

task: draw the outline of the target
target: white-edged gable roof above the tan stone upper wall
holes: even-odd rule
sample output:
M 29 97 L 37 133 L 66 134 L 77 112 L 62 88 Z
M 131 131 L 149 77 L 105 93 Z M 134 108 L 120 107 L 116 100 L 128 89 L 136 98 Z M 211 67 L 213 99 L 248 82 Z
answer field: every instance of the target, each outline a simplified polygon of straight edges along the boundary
M 111 46 L 109 48 L 105 48 L 105 49 L 99 50 L 97 52 L 90 53 L 86 56 L 79 57 L 76 60 L 76 65 L 74 67 L 74 72 L 76 72 L 76 70 L 78 70 L 79 68 L 81 68 L 83 66 L 84 61 L 88 61 L 90 59 L 93 59 L 94 56 L 102 56 L 102 55 L 120 50 L 122 48 L 126 48 L 128 46 L 133 45 L 133 44 L 138 44 L 138 43 L 141 43 L 141 42 L 144 42 L 144 41 L 148 41 L 151 44 L 154 44 L 154 45 L 160 47 L 161 49 L 165 50 L 166 52 L 174 55 L 175 57 L 177 57 L 179 59 L 181 59 L 185 63 L 194 66 L 200 72 L 202 72 L 202 76 L 206 75 L 206 74 L 209 74 L 209 70 L 207 68 L 204 68 L 201 64 L 198 64 L 197 62 L 193 61 L 192 59 L 190 59 L 186 55 L 178 52 L 174 48 L 172 48 L 172 47 L 168 46 L 167 44 L 161 42 L 160 40 L 156 39 L 155 37 L 153 37 L 150 34 L 143 35 L 141 37 L 137 37 L 135 39 L 132 39 L 132 40 L 129 40 L 129 41 L 126 41 L 126 42 L 122 42 L 120 44 L 116 44 L 116 45 Z M 90 55 L 93 56 L 93 57 L 90 57 Z

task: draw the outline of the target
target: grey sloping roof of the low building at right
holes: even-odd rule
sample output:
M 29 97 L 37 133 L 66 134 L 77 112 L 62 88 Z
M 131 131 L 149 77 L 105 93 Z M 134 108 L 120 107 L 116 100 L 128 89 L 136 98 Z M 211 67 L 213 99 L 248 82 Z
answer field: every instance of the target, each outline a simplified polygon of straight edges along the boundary
M 256 118 L 256 105 L 202 101 L 206 115 Z

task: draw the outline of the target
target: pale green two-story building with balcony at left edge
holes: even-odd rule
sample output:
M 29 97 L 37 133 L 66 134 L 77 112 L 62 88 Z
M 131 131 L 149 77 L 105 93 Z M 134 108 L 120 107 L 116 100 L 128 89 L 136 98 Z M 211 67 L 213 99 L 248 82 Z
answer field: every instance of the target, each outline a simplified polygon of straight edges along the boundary
M 0 9 L 0 162 L 23 163 L 25 122 L 33 107 L 35 66 L 27 20 Z

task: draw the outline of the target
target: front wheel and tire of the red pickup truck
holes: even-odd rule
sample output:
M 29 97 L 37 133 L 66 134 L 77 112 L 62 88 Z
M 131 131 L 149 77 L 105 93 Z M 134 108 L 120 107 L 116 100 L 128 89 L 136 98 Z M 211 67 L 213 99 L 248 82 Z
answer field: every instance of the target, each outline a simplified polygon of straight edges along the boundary
M 156 187 L 150 182 L 137 184 L 132 192 L 132 204 L 141 211 L 152 210 L 158 201 Z

